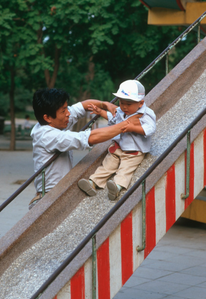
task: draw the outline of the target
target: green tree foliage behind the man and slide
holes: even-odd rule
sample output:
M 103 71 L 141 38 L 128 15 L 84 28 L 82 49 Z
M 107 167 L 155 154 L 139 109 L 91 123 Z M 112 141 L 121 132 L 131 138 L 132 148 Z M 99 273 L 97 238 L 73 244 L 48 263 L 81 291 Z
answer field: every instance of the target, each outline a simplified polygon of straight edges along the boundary
M 73 102 L 111 100 L 122 81 L 134 79 L 184 31 L 148 25 L 147 17 L 139 0 L 1 0 L 0 97 L 10 95 L 10 113 L 15 86 L 63 87 Z M 195 42 L 194 35 L 181 42 L 171 65 Z M 164 75 L 161 61 L 142 79 L 146 91 Z

